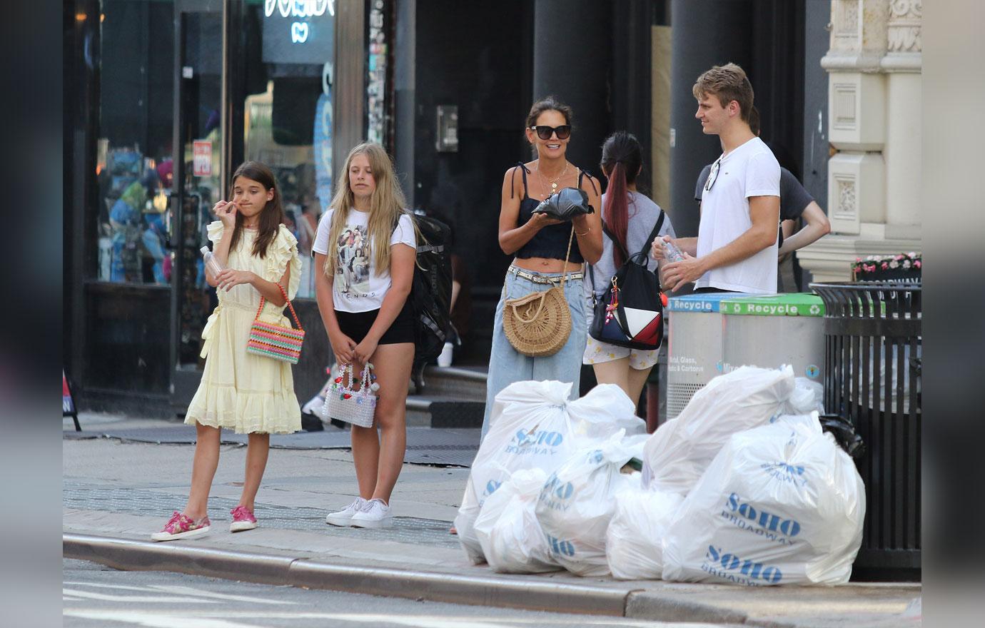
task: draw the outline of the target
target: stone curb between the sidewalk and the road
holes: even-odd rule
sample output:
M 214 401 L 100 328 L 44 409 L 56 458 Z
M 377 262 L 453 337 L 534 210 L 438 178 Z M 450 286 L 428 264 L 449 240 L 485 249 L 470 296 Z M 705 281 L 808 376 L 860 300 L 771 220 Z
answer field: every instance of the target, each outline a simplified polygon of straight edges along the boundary
M 334 565 L 308 557 L 293 558 L 92 534 L 62 534 L 62 555 L 123 571 L 172 571 L 370 596 L 652 621 L 742 624 L 748 619 L 743 613 L 639 589 L 626 591 L 501 576 L 463 576 Z

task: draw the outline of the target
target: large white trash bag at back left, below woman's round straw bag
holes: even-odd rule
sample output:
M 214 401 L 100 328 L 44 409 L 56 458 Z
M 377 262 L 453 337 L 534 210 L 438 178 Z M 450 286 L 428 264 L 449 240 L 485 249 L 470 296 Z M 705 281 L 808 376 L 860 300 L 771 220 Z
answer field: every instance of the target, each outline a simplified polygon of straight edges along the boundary
M 486 498 L 521 469 L 554 472 L 577 449 L 628 426 L 645 433 L 635 405 L 614 384 L 597 386 L 569 401 L 570 383 L 515 382 L 495 396 L 491 427 L 479 446 L 465 485 L 455 530 L 475 564 L 485 561 L 474 525 Z

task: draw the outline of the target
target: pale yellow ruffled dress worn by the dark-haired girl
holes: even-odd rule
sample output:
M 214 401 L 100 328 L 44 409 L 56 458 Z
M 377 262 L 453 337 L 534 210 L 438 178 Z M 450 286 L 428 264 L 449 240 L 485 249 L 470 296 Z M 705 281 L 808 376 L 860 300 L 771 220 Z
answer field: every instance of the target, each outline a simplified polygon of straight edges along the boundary
M 208 229 L 215 245 L 223 237 L 223 223 L 216 220 Z M 236 250 L 230 251 L 227 267 L 252 271 L 268 282 L 280 282 L 290 264 L 291 281 L 285 288 L 288 298 L 293 299 L 301 279 L 295 236 L 282 224 L 263 259 L 251 254 L 255 239 L 255 230 L 243 229 Z M 249 329 L 259 307 L 260 293 L 248 283 L 234 285 L 228 292 L 219 290 L 219 305 L 202 331 L 205 370 L 188 406 L 185 423 L 227 427 L 237 434 L 300 430 L 301 412 L 291 364 L 246 352 Z M 284 309 L 267 302 L 260 320 L 291 325 Z

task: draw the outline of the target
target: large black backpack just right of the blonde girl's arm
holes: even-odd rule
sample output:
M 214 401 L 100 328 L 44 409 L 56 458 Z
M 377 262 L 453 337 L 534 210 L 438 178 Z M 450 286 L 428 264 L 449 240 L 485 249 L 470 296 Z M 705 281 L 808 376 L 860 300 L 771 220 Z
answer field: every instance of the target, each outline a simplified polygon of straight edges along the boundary
M 418 242 L 414 282 L 407 297 L 414 312 L 415 367 L 435 359 L 451 337 L 451 229 L 444 222 L 412 214 L 423 241 Z M 394 227 L 396 228 L 396 227 Z

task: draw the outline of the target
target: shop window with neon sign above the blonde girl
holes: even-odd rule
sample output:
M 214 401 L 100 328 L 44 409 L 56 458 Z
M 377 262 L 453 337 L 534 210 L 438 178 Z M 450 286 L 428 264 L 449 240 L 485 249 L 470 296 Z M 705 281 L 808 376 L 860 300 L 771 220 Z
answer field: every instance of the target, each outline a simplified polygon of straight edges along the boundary
M 244 50 L 260 60 L 245 67 L 243 156 L 277 175 L 301 255 L 299 297 L 314 296 L 311 245 L 332 199 L 335 12 L 332 0 L 244 4 Z

